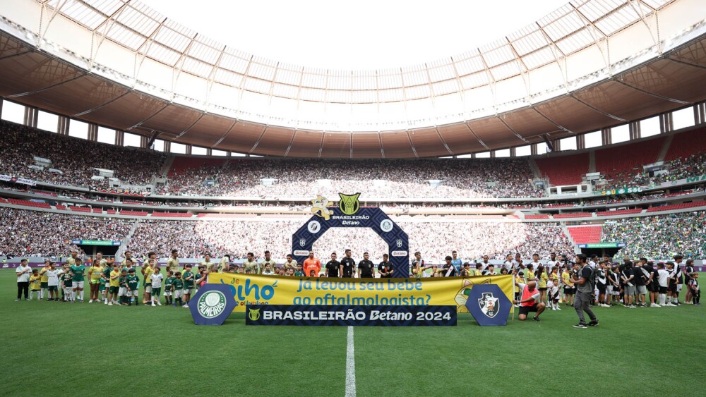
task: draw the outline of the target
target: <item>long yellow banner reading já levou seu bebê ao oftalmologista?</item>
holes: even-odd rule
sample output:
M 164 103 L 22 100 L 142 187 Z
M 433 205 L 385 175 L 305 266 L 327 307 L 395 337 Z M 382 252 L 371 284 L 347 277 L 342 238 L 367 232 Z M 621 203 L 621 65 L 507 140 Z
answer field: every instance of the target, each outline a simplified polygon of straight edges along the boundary
M 231 286 L 237 306 L 245 305 L 455 305 L 466 313 L 466 297 L 477 284 L 497 284 L 513 300 L 513 276 L 428 279 L 328 279 L 214 273 L 209 283 Z

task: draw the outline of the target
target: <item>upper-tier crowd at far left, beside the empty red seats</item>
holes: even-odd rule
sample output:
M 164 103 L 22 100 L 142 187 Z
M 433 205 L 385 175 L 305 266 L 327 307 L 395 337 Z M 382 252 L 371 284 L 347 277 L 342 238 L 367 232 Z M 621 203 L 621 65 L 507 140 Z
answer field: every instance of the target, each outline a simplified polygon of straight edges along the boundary
M 97 175 L 94 168 L 114 171 L 114 178 L 122 183 L 144 185 L 159 173 L 166 159 L 160 152 L 90 142 L 7 121 L 0 121 L 0 152 L 0 173 L 73 186 L 107 185 L 104 178 L 91 179 Z M 35 168 L 33 157 L 49 159 L 51 169 L 58 172 Z

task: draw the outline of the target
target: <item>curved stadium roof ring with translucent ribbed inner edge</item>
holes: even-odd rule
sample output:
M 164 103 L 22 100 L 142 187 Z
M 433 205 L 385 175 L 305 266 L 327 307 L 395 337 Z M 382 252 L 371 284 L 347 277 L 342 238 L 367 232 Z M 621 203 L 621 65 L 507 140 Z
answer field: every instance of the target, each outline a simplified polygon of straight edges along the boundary
M 330 71 L 201 37 L 137 1 L 19 0 L 0 94 L 160 139 L 292 157 L 428 157 L 561 138 L 706 97 L 698 0 L 580 0 L 422 65 Z M 686 47 L 684 47 L 686 46 Z

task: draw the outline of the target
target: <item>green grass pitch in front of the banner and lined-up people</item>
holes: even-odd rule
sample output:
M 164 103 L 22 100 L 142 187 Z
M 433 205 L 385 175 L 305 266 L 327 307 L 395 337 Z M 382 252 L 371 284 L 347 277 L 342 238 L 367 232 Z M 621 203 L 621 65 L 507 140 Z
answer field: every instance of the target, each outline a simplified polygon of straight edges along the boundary
M 195 326 L 177 307 L 14 302 L 0 271 L 0 396 L 343 396 L 347 328 Z M 88 302 L 88 292 L 85 293 Z M 358 396 L 703 396 L 702 307 L 572 307 L 542 322 L 354 328 Z

